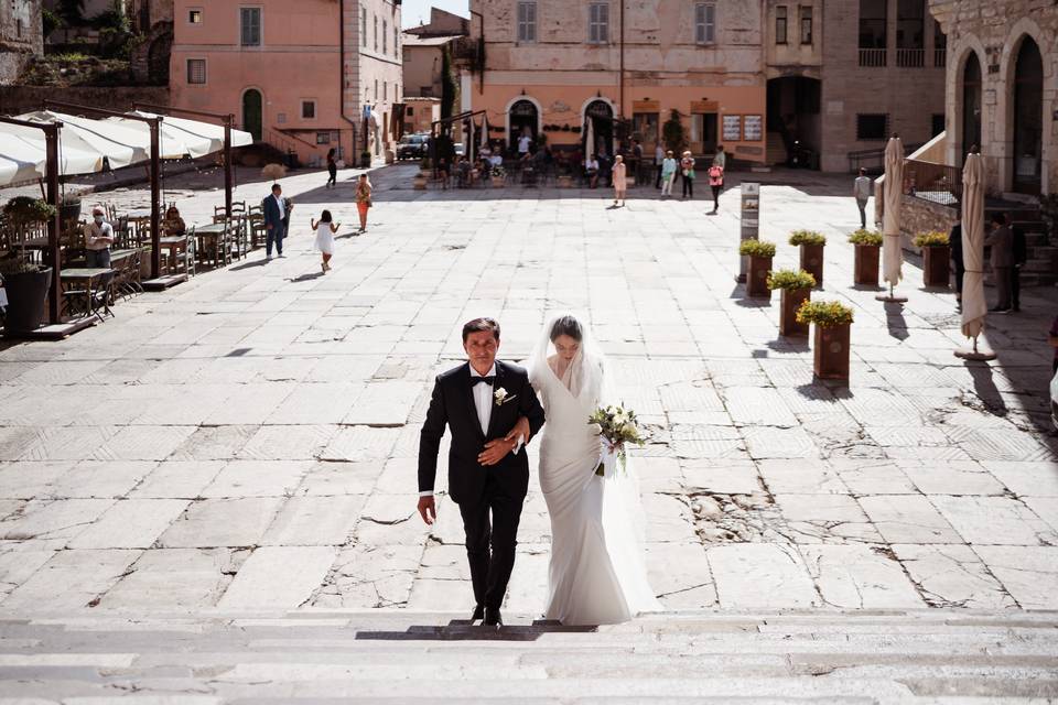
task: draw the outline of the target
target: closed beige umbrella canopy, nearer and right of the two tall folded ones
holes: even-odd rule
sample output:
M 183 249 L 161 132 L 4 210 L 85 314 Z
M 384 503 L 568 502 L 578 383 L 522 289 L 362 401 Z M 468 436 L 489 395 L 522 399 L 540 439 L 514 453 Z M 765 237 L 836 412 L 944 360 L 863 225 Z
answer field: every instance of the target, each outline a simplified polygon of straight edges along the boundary
M 984 330 L 984 169 L 980 154 L 962 167 L 962 334 L 976 338 Z

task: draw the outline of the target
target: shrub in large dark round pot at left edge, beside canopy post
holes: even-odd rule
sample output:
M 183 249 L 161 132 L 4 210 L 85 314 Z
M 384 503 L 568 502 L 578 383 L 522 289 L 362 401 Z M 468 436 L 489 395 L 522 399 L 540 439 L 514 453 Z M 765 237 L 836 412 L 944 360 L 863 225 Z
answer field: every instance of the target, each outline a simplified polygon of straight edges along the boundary
M 29 196 L 15 196 L 3 206 L 3 215 L 15 229 L 54 220 L 55 206 Z M 0 260 L 0 278 L 8 296 L 4 333 L 29 333 L 44 319 L 44 302 L 52 283 L 52 269 L 29 260 L 25 248 Z

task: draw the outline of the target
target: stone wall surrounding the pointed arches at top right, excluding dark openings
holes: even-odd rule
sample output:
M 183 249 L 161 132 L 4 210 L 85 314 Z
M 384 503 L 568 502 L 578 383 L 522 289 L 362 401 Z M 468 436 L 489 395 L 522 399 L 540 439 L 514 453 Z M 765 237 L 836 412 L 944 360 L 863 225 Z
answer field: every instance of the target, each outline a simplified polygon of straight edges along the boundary
M 1058 188 L 1058 8 L 1049 0 L 930 0 L 930 12 L 948 34 L 948 73 L 944 102 L 948 163 L 961 164 L 965 151 L 962 134 L 963 72 L 971 52 L 981 63 L 981 154 L 985 160 L 987 187 L 1010 191 L 1014 182 L 1014 68 L 1026 36 L 1039 46 L 1044 65 L 1043 193 Z

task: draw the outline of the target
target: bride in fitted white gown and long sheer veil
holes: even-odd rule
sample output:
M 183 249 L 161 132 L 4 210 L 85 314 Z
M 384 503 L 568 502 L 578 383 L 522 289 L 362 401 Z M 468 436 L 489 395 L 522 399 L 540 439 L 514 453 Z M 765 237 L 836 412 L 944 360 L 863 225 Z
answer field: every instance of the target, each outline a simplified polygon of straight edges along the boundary
M 547 413 L 540 443 L 540 488 L 551 516 L 547 619 L 563 625 L 612 625 L 658 610 L 643 560 L 643 507 L 633 475 L 614 467 L 595 474 L 602 442 L 587 417 L 618 403 L 608 390 L 602 352 L 580 321 L 563 315 L 543 328 L 529 379 Z

